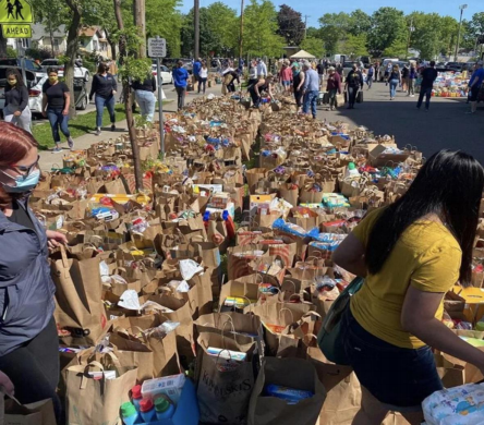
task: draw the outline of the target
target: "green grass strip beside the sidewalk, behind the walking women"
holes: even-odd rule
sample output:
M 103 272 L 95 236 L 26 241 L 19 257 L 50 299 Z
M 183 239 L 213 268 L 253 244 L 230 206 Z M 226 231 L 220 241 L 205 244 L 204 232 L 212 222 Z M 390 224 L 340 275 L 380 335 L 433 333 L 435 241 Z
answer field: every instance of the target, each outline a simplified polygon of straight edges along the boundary
M 164 100 L 164 105 L 169 104 L 171 101 L 172 100 Z M 126 119 L 123 105 L 117 105 L 114 107 L 114 110 L 116 110 L 117 122 Z M 137 108 L 137 111 L 140 111 L 140 108 Z M 136 113 L 135 116 L 138 116 L 138 113 Z M 109 113 L 108 110 L 105 109 L 105 114 L 102 116 L 102 126 L 109 126 L 109 125 L 110 125 Z M 74 118 L 73 120 L 69 120 L 69 130 L 71 131 L 71 135 L 73 138 L 83 136 L 84 134 L 95 130 L 95 127 L 96 127 L 96 111 L 77 114 L 77 117 Z M 48 121 L 39 125 L 34 125 L 32 129 L 32 133 L 34 134 L 35 139 L 40 145 L 39 148 L 41 150 L 46 150 L 55 146 L 52 139 L 52 131 L 50 129 L 50 124 Z M 65 142 L 64 138 L 65 137 L 61 135 L 62 142 Z

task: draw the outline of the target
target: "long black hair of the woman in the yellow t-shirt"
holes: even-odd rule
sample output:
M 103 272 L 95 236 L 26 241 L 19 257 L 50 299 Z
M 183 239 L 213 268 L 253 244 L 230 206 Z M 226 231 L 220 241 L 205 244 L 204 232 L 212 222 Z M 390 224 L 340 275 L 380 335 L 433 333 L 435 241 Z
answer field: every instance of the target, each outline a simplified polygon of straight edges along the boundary
M 372 275 L 382 270 L 398 239 L 420 218 L 436 214 L 462 250 L 460 282 L 471 281 L 472 248 L 484 189 L 484 170 L 470 155 L 440 150 L 422 167 L 408 192 L 375 222 L 365 252 Z

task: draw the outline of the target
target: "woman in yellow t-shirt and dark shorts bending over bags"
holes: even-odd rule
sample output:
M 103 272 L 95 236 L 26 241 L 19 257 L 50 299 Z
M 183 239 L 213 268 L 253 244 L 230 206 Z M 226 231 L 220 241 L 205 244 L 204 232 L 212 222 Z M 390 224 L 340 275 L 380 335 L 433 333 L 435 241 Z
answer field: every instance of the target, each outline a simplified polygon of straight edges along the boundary
M 441 150 L 395 204 L 372 211 L 334 262 L 365 283 L 343 317 L 344 350 L 362 387 L 353 425 L 379 425 L 389 411 L 411 424 L 443 389 L 431 349 L 484 372 L 484 353 L 441 323 L 444 294 L 471 280 L 484 170 L 471 156 Z

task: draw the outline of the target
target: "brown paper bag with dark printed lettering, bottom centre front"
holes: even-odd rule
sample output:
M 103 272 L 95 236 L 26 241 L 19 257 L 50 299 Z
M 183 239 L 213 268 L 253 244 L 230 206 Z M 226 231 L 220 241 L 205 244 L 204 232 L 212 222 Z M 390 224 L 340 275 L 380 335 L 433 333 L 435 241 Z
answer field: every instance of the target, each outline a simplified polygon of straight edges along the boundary
M 254 388 L 255 342 L 239 344 L 237 336 L 202 332 L 197 339 L 196 396 L 202 423 L 246 424 L 249 400 Z M 208 348 L 245 353 L 245 361 L 209 355 Z M 221 353 L 220 353 L 221 354 Z

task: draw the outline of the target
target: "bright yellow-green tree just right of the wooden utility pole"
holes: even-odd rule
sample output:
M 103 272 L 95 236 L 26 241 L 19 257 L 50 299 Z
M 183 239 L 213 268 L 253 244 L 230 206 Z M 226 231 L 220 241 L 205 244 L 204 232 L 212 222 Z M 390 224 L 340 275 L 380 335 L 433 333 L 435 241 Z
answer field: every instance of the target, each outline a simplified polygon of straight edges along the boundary
M 285 40 L 277 34 L 277 12 L 269 0 L 250 0 L 244 11 L 244 50 L 252 56 L 279 57 Z

